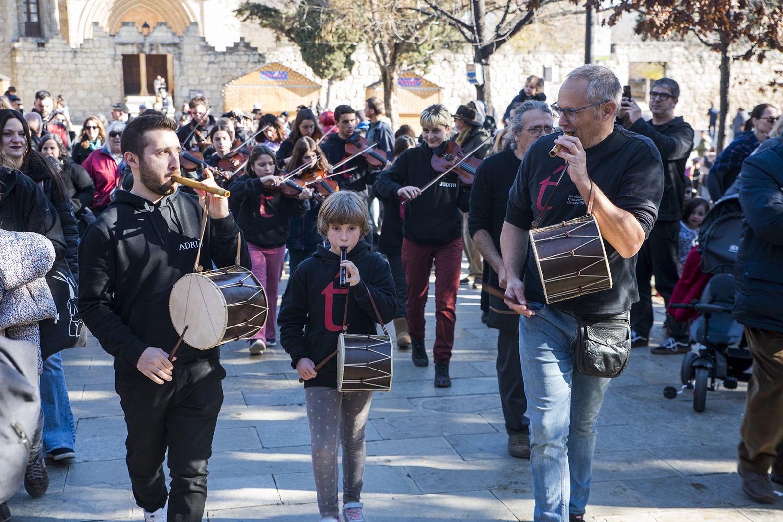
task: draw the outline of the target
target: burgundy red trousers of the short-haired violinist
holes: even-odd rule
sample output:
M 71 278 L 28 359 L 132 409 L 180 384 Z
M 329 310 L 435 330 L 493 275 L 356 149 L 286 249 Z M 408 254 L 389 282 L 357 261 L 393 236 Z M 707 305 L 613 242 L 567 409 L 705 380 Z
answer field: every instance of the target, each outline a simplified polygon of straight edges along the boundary
M 430 271 L 435 264 L 435 363 L 448 362 L 454 345 L 456 321 L 456 291 L 460 288 L 462 238 L 442 246 L 417 245 L 402 240 L 402 269 L 408 284 L 406 312 L 408 331 L 416 340 L 424 339 L 424 306 L 430 288 Z

